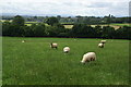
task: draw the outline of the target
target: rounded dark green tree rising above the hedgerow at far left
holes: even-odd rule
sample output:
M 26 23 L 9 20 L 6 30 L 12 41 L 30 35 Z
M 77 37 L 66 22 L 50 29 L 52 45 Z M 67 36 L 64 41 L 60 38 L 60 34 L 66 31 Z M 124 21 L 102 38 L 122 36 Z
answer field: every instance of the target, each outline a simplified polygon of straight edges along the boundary
M 19 25 L 19 26 L 24 26 L 24 18 L 22 16 L 20 16 L 20 15 L 16 15 L 13 18 L 12 24 L 13 25 Z

